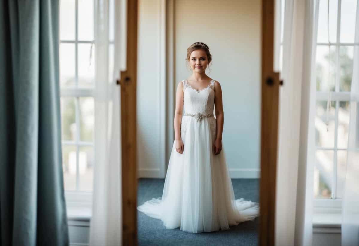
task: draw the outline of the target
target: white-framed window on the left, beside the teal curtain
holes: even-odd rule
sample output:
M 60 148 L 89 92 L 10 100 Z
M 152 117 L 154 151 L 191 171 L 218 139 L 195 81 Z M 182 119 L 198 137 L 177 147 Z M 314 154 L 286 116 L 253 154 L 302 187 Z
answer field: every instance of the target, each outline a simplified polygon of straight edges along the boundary
M 62 168 L 68 198 L 93 190 L 94 1 L 61 0 L 59 34 Z

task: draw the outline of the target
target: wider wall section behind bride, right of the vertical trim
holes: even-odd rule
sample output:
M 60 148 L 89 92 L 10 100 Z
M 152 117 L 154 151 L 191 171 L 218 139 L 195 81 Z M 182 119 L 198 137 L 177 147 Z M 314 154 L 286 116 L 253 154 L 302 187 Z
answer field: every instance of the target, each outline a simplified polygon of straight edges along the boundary
M 207 74 L 222 86 L 222 144 L 236 178 L 254 178 L 260 167 L 260 8 L 260 0 L 176 0 L 174 6 L 176 81 L 191 74 L 187 47 L 206 43 L 213 57 Z

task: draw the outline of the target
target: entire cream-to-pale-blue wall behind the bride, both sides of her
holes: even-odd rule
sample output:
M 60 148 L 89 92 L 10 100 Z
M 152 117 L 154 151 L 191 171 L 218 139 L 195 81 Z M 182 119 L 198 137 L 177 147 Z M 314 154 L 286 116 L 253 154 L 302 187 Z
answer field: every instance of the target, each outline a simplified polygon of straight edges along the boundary
M 161 8 L 165 4 L 170 24 L 161 28 L 161 18 L 166 13 L 161 12 Z M 185 63 L 186 49 L 197 41 L 208 44 L 213 55 L 208 75 L 222 86 L 222 143 L 230 175 L 233 178 L 259 176 L 260 7 L 260 0 L 139 1 L 137 145 L 140 177 L 164 178 L 163 167 L 168 164 L 168 153 L 173 145 L 173 89 L 190 76 Z M 167 49 L 173 50 L 173 55 L 167 56 L 164 63 L 161 61 L 163 52 L 158 46 L 162 33 L 167 33 Z M 173 49 L 169 34 L 173 38 Z M 173 74 L 173 79 L 165 80 L 162 86 L 165 90 L 161 92 L 164 84 L 161 84 L 159 67 L 166 65 L 166 72 Z M 163 96 L 165 105 L 159 100 Z M 163 107 L 167 111 L 162 111 Z M 165 112 L 165 125 L 161 112 Z M 162 144 L 161 136 L 167 140 L 165 159 L 165 153 L 157 147 Z

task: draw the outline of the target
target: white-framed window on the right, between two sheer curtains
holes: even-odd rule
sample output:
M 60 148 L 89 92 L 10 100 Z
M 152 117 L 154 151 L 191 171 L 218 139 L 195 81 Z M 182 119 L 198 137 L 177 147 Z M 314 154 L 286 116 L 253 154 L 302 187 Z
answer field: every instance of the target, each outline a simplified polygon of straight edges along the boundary
M 348 148 L 356 1 L 319 2 L 316 49 L 317 102 L 314 122 L 315 207 L 341 207 Z M 328 100 L 330 103 L 327 104 Z

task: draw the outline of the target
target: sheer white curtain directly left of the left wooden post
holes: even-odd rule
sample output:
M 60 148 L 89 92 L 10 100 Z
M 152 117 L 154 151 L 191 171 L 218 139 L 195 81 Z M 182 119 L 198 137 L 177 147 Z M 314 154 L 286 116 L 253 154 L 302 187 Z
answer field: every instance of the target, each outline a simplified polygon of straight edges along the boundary
M 121 245 L 120 88 L 126 1 L 95 0 L 95 165 L 89 245 Z

